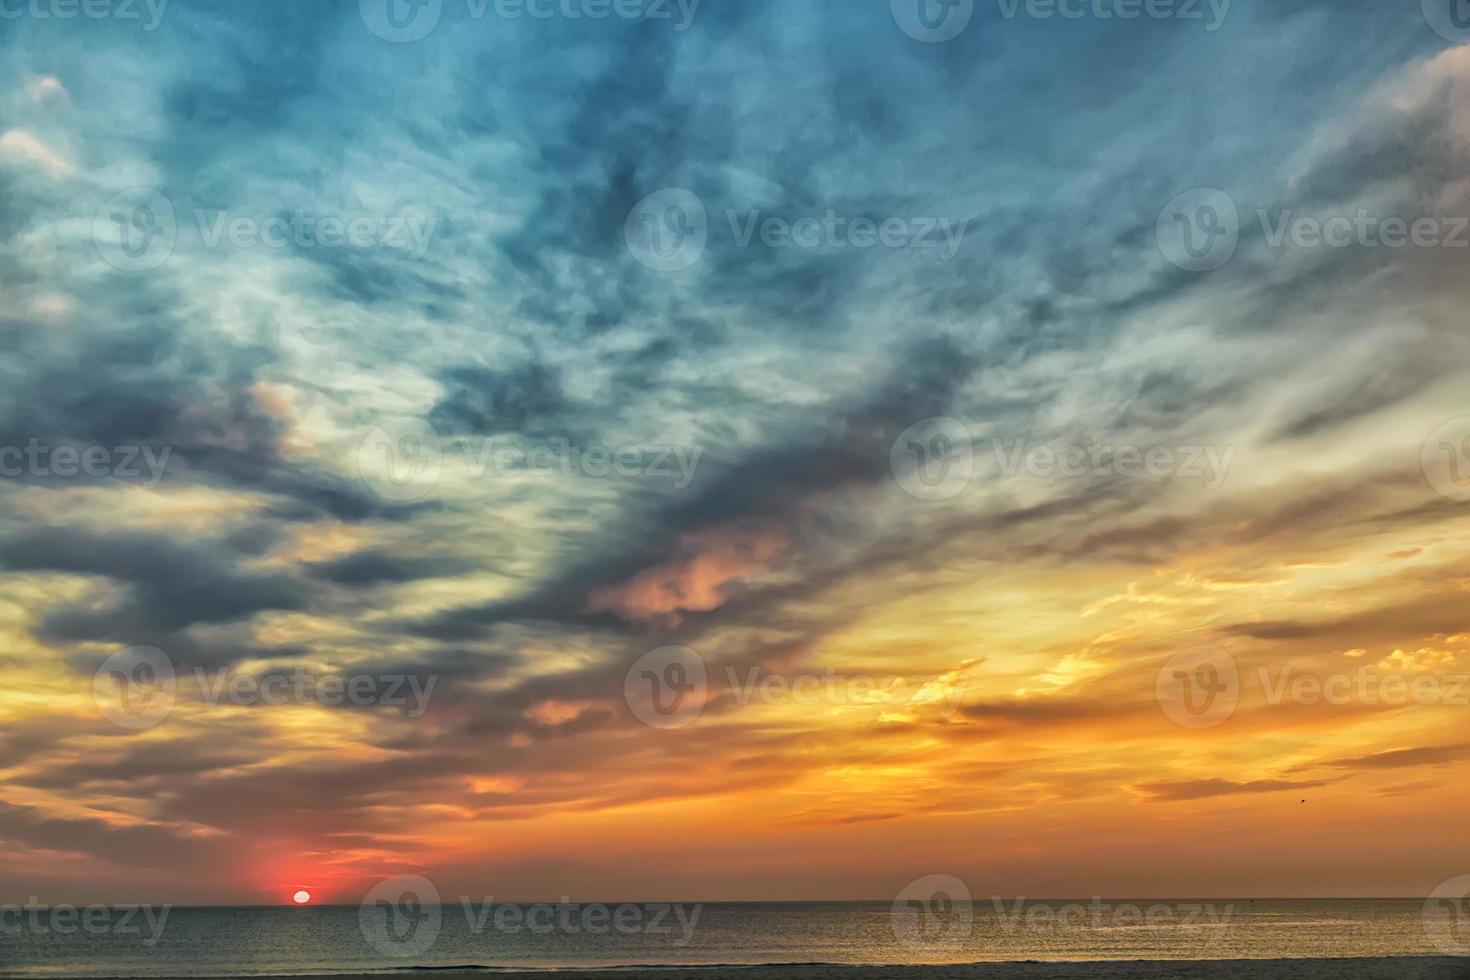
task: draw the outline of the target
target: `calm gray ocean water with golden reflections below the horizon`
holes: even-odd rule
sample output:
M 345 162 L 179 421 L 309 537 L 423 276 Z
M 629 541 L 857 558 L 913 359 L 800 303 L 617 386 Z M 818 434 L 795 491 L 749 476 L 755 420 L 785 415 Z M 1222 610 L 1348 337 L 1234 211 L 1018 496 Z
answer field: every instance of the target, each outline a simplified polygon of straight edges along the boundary
M 13 908 L 13 907 L 12 907 Z M 594 911 L 588 911 L 588 909 Z M 1421 901 L 175 908 L 0 929 L 0 977 L 1436 955 Z M 390 923 L 388 917 L 394 915 Z M 40 924 L 37 924 L 37 921 Z M 59 920 L 62 921 L 62 920 Z M 613 923 L 620 926 L 613 927 Z M 66 923 L 62 921 L 65 926 Z M 162 926 L 162 927 L 159 927 Z

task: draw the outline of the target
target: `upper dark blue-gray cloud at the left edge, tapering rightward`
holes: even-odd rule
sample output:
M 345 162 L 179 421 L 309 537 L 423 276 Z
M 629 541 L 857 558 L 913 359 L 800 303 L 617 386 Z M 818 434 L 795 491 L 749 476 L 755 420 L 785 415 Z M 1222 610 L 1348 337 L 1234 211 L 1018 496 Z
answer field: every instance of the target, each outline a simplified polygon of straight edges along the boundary
M 10 460 L 7 479 L 244 489 L 276 498 L 278 513 L 298 520 L 401 519 L 415 510 L 284 454 L 287 422 L 270 414 L 254 389 L 266 379 L 272 351 L 219 339 L 204 344 L 166 311 L 181 301 L 176 294 L 109 282 L 112 323 L 98 317 L 74 331 L 0 331 L 0 351 L 9 360 L 9 369 L 0 369 L 7 382 L 0 394 L 0 445 L 96 447 L 118 466 L 94 479 L 75 466 L 59 476 L 44 466 L 49 457 L 41 457 L 40 472 Z M 24 472 L 16 475 L 18 464 Z

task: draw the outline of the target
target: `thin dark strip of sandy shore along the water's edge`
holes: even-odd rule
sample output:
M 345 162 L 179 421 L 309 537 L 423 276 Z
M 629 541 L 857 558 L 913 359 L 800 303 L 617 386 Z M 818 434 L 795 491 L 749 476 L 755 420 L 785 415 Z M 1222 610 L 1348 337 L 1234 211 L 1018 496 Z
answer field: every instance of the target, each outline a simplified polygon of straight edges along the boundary
M 485 977 L 497 980 L 638 980 L 641 977 L 650 980 L 1470 980 L 1470 958 L 997 962 L 954 967 L 675 967 L 529 973 L 417 970 L 398 974 L 341 974 L 337 980 L 381 980 L 385 976 L 435 980 Z M 297 979 L 256 977 L 254 980 Z

